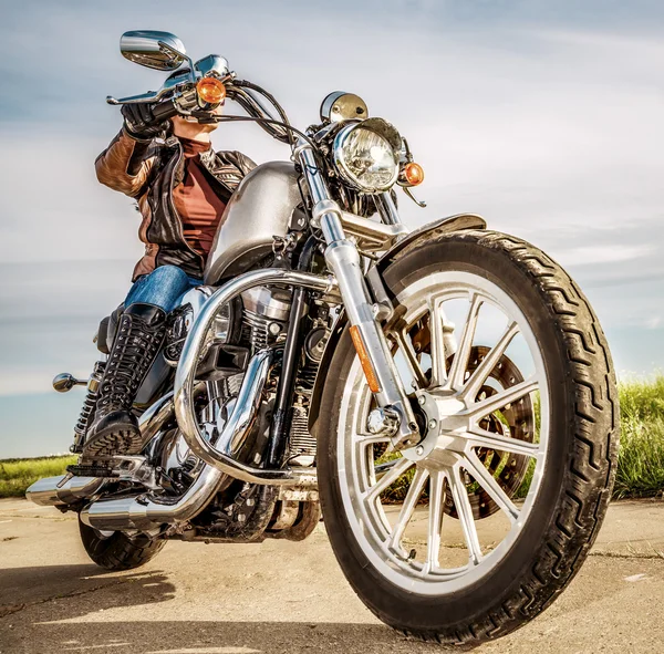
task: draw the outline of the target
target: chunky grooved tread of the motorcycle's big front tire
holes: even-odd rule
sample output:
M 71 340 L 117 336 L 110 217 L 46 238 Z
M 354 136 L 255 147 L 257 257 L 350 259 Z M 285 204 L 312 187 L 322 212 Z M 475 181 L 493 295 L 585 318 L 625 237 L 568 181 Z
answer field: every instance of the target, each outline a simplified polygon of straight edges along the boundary
M 518 589 L 498 606 L 467 624 L 446 631 L 396 629 L 422 641 L 477 645 L 504 636 L 547 609 L 570 583 L 593 544 L 608 508 L 615 478 L 619 438 L 619 405 L 615 375 L 606 339 L 585 295 L 569 274 L 535 246 L 497 231 L 464 230 L 437 236 L 436 240 L 463 241 L 501 250 L 533 283 L 562 339 L 571 383 L 568 393 L 574 407 L 574 438 L 563 490 L 543 536 L 539 558 Z M 405 257 L 415 242 L 397 255 Z M 572 428 L 572 426 L 570 426 Z M 600 429 L 602 429 L 600 432 Z M 383 622 L 394 623 L 375 606 L 369 609 Z

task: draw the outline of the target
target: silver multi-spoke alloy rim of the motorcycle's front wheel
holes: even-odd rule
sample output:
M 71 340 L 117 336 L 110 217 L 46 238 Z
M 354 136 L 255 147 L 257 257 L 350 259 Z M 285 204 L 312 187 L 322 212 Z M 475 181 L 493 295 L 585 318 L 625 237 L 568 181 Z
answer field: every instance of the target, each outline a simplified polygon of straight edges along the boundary
M 459 324 L 457 352 L 449 362 L 445 356 L 443 304 L 466 300 L 468 311 Z M 400 292 L 397 303 L 405 308 L 400 329 L 387 332 L 402 354 L 402 363 L 414 380 L 413 401 L 426 423 L 418 446 L 402 451 L 402 457 L 382 475 L 376 475 L 374 446 L 383 446 L 385 436 L 370 435 L 365 428 L 372 396 L 357 359 L 352 364 L 342 396 L 338 460 L 340 489 L 353 531 L 364 554 L 384 577 L 396 585 L 422 594 L 455 592 L 484 577 L 505 558 L 518 539 L 537 497 L 547 464 L 549 439 L 549 392 L 543 360 L 537 339 L 517 303 L 486 278 L 460 271 L 437 272 Z M 473 373 L 468 357 L 477 333 L 481 307 L 491 307 L 506 318 L 506 329 Z M 412 343 L 409 325 L 428 314 L 430 325 L 430 371 L 425 375 Z M 477 397 L 486 378 L 499 364 L 517 335 L 521 335 L 531 355 L 533 373 L 512 387 L 488 397 Z M 404 367 L 402 365 L 402 367 Z M 537 443 L 487 432 L 479 422 L 500 408 L 539 392 L 541 425 Z M 483 449 L 484 448 L 484 449 Z M 532 481 L 522 504 L 513 501 L 484 465 L 478 451 L 491 449 L 505 456 L 527 456 L 535 460 Z M 387 518 L 382 494 L 403 475 L 412 479 L 394 523 Z M 468 476 L 496 502 L 509 520 L 505 538 L 490 551 L 483 548 L 467 491 Z M 426 557 L 415 560 L 404 544 L 404 532 L 428 485 Z M 452 496 L 468 552 L 465 565 L 446 568 L 439 560 L 442 523 L 446 494 Z M 448 520 L 449 516 L 445 516 Z

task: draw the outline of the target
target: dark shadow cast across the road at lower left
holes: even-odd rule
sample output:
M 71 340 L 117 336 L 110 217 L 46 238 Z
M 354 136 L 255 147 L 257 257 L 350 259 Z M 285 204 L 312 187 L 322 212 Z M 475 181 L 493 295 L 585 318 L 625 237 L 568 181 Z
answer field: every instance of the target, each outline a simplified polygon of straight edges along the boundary
M 439 645 L 406 640 L 377 624 L 141 620 L 142 610 L 174 598 L 162 571 L 110 573 L 95 565 L 46 565 L 0 571 L 0 652 L 113 654 L 416 654 Z M 100 592 L 96 592 L 100 591 Z M 100 612 L 132 608 L 127 621 Z M 185 609 L 185 606 L 183 606 Z M 94 622 L 85 616 L 94 615 Z M 103 613 L 102 613 L 103 616 Z M 72 622 L 70 622 L 72 621 Z

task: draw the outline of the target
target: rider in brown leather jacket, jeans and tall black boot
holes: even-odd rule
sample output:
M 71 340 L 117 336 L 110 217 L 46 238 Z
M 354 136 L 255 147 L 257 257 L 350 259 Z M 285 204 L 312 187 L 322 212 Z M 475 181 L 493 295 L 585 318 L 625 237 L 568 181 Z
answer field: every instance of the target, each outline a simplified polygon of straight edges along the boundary
M 178 71 L 177 74 L 181 74 Z M 221 113 L 221 103 L 214 113 Z M 203 271 L 231 193 L 256 164 L 212 149 L 217 123 L 175 116 L 155 124 L 147 104 L 125 104 L 124 125 L 95 162 L 97 179 L 136 198 L 145 256 L 134 269 L 116 338 L 98 386 L 83 456 L 137 454 L 132 405 L 166 332 L 166 315 Z

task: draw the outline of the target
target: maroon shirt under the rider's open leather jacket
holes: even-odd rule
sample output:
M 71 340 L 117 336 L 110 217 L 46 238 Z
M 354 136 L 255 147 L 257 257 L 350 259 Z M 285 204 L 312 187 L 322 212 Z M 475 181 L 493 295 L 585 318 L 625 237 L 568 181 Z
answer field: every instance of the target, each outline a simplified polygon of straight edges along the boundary
M 209 143 L 180 138 L 185 153 L 185 176 L 173 189 L 173 201 L 183 221 L 183 236 L 188 246 L 207 259 L 226 205 L 209 183 L 199 154 L 210 149 Z

